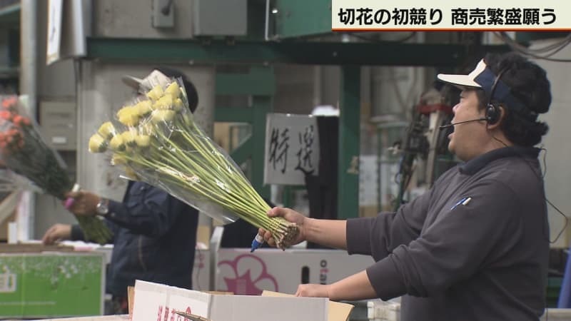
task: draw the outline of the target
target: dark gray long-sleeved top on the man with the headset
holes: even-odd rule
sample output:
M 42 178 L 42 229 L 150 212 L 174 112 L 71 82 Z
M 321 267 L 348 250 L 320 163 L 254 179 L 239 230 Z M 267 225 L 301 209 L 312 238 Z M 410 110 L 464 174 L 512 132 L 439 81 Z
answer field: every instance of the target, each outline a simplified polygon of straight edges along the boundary
M 396 213 L 348 220 L 348 252 L 373 256 L 369 280 L 383 300 L 403 295 L 401 320 L 538 320 L 549 255 L 538 153 L 491 151 Z

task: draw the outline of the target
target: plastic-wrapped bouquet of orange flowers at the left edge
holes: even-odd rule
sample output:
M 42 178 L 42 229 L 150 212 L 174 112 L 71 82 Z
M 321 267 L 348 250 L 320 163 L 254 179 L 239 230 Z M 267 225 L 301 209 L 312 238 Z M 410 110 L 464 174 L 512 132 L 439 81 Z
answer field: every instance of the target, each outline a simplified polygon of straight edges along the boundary
M 64 200 L 66 192 L 69 192 L 74 185 L 66 173 L 64 162 L 46 145 L 35 122 L 21 110 L 16 96 L 0 97 L 0 101 L 2 163 L 12 172 L 26 178 L 20 180 L 21 182 L 31 181 L 37 188 Z M 111 230 L 99 218 L 86 216 L 76 216 L 76 218 L 90 240 L 105 244 L 111 238 Z

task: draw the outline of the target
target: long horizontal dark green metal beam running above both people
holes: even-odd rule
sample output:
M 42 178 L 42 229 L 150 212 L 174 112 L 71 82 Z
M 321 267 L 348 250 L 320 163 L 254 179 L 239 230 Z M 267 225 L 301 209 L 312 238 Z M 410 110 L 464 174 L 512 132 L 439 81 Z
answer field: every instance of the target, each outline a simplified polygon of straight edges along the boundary
M 484 46 L 482 51 L 508 51 Z M 468 53 L 452 44 L 390 41 L 339 43 L 310 41 L 224 41 L 211 39 L 88 38 L 85 58 L 162 63 L 302 63 L 312 65 L 457 66 Z

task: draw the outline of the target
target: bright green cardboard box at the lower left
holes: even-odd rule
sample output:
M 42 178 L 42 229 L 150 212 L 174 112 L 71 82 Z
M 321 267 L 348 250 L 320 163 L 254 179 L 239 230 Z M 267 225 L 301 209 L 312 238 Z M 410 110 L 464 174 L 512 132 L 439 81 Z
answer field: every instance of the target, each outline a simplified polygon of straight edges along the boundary
M 2 252 L 0 319 L 103 314 L 102 253 Z

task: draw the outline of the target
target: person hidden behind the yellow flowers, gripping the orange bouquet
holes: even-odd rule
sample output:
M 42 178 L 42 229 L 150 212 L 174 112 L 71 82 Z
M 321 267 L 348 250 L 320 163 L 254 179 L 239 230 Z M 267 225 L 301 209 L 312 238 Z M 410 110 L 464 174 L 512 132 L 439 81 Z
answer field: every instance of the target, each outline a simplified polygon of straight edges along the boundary
M 182 73 L 157 68 L 168 77 L 181 77 L 194 112 L 198 93 Z M 134 82 L 133 82 L 134 81 Z M 137 78 L 126 83 L 138 88 Z M 106 291 L 113 296 L 110 314 L 127 312 L 127 287 L 135 280 L 158 282 L 192 289 L 198 210 L 160 188 L 129 180 L 121 202 L 102 198 L 87 190 L 66 195 L 74 198 L 69 210 L 76 215 L 99 215 L 113 232 L 113 253 L 108 266 Z M 85 240 L 79 225 L 56 224 L 49 228 L 44 244 L 59 240 Z M 89 240 L 86 240 L 89 241 Z

